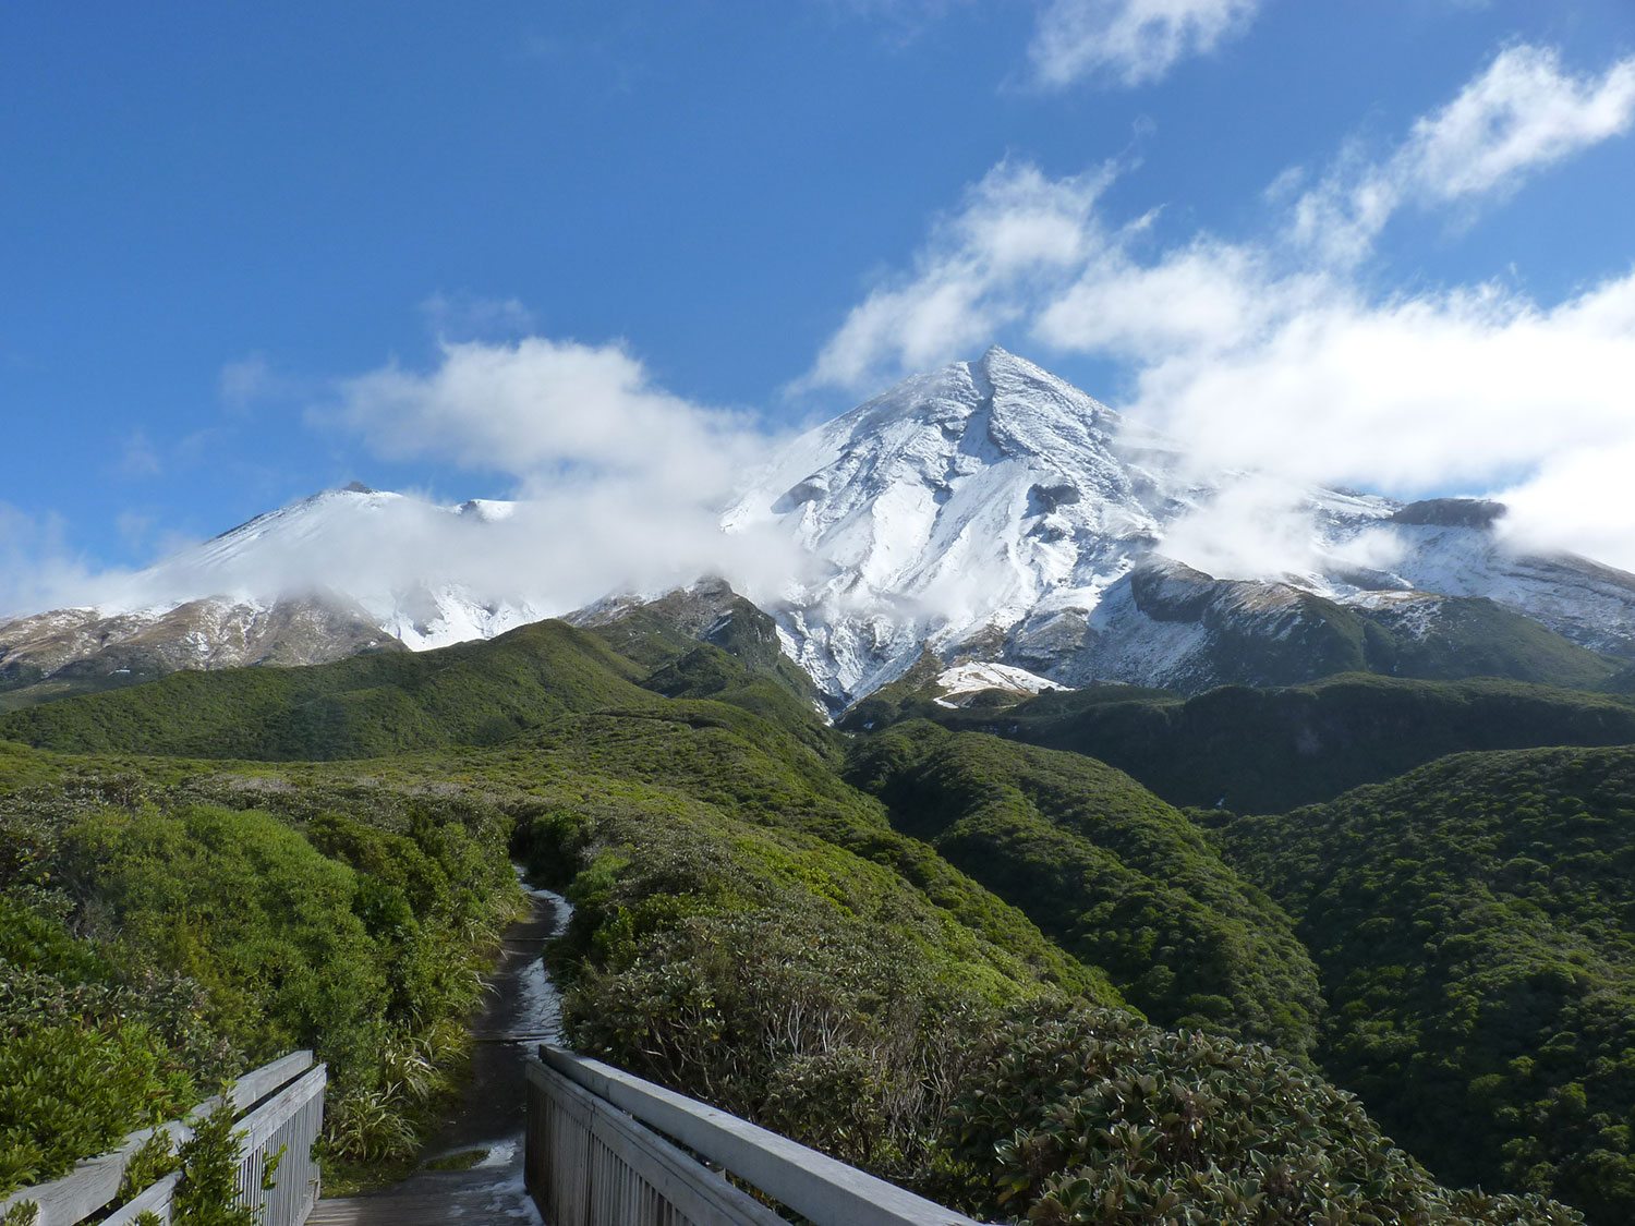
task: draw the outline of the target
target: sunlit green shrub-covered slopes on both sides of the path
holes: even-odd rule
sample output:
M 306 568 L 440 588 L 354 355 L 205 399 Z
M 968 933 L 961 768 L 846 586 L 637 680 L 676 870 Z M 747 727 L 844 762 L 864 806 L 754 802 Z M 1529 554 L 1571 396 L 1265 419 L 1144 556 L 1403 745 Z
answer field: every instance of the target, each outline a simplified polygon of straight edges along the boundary
M 0 1064 L 52 1069 L 0 1090 L 11 1182 L 293 1045 L 335 1072 L 332 1156 L 410 1151 L 520 857 L 577 904 L 582 1049 L 971 1213 L 1576 1219 L 1437 1187 L 1301 1054 L 1333 950 L 1246 883 L 1308 922 L 1252 824 L 1228 863 L 1082 757 L 849 742 L 726 613 L 7 716 L 95 755 L 0 742 Z

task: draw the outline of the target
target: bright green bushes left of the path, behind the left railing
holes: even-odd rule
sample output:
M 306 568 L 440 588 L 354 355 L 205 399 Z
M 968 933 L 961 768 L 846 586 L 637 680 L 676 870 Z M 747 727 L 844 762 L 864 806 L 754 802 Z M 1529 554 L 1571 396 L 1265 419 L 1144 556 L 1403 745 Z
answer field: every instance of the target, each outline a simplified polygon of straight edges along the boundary
M 296 1046 L 330 1063 L 337 1157 L 410 1151 L 517 906 L 508 832 L 368 786 L 0 793 L 0 1190 Z

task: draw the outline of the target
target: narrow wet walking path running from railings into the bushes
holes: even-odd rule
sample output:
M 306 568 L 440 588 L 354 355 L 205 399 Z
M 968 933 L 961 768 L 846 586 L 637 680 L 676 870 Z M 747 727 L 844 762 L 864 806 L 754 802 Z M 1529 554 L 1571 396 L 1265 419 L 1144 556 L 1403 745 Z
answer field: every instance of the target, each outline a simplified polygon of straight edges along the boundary
M 422 1226 L 425 1223 L 540 1223 L 523 1190 L 523 1058 L 538 1043 L 561 1043 L 562 1002 L 544 971 L 544 942 L 567 925 L 572 906 L 548 889 L 528 889 L 528 919 L 505 930 L 487 1000 L 473 1025 L 471 1082 L 427 1159 L 486 1149 L 469 1170 L 422 1170 L 370 1193 L 320 1200 L 307 1226 Z

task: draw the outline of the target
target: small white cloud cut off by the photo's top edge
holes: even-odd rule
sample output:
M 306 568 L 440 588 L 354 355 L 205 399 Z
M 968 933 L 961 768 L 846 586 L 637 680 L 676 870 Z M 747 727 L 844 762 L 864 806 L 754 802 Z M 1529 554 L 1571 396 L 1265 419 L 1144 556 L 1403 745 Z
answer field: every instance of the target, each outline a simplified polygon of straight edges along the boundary
M 1259 0 L 1051 0 L 1030 56 L 1041 85 L 1143 85 L 1243 31 Z

